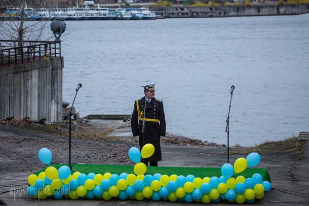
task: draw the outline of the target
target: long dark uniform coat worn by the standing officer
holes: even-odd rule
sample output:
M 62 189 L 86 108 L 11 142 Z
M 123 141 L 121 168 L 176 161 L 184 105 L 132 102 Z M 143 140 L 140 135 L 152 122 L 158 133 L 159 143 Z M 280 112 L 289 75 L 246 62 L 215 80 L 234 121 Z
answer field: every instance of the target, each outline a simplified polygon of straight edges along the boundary
M 137 109 L 137 102 L 139 110 Z M 145 162 L 155 162 L 162 160 L 160 136 L 165 136 L 165 115 L 163 109 L 163 102 L 160 99 L 153 97 L 150 102 L 146 102 L 146 116 L 149 119 L 159 119 L 159 122 L 145 121 L 145 143 L 143 143 L 142 125 L 143 121 L 139 121 L 139 116 L 144 117 L 145 97 L 135 100 L 134 110 L 131 119 L 131 128 L 133 136 L 139 135 L 139 148 L 141 149 L 145 144 L 152 144 L 155 146 L 155 153 L 144 159 Z M 142 114 L 139 114 L 142 113 Z

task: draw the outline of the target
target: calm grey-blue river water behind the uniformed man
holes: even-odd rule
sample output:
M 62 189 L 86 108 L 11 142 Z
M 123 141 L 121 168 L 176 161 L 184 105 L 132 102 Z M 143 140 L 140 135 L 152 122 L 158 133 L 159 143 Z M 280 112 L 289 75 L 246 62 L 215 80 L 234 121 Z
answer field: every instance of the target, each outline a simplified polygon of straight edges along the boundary
M 63 99 L 81 116 L 132 114 L 155 82 L 167 132 L 231 146 L 309 130 L 309 14 L 67 21 Z

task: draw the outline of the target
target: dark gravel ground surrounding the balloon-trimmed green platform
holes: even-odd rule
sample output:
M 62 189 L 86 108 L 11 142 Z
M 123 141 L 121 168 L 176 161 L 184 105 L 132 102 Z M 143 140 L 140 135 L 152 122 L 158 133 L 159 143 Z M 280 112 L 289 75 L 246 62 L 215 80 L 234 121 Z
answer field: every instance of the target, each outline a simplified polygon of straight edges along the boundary
M 85 139 L 81 138 L 84 134 L 74 133 L 74 135 L 78 139 L 72 141 L 72 163 L 133 165 L 128 159 L 127 151 L 133 146 L 137 147 L 137 143 Z M 48 129 L 36 125 L 20 126 L 6 122 L 0 123 L 0 200 L 8 205 L 115 205 L 133 203 L 137 205 L 187 205 L 181 202 L 120 201 L 119 199 L 110 201 L 102 199 L 62 199 L 57 201 L 46 199 L 38 201 L 29 198 L 26 195 L 26 189 L 10 192 L 15 188 L 25 188 L 27 177 L 33 171 L 44 167 L 37 157 L 37 152 L 41 148 L 47 147 L 52 151 L 52 163 L 67 162 L 68 138 L 63 136 L 63 131 L 60 129 L 53 129 L 49 132 Z M 308 141 L 302 142 L 303 153 L 295 153 L 286 149 L 280 152 L 259 152 L 261 161 L 257 167 L 267 168 L 272 178 L 273 189 L 266 192 L 265 196 L 256 201 L 255 204 L 268 205 L 278 204 L 278 202 L 282 202 L 284 205 L 308 204 L 308 145 Z M 233 163 L 239 157 L 246 157 L 247 154 L 238 153 L 238 151 L 241 152 L 244 149 L 247 148 L 230 148 L 230 151 L 233 152 L 230 155 L 230 163 Z M 226 163 L 226 147 L 219 145 L 206 146 L 203 143 L 189 147 L 162 143 L 162 154 L 163 161 L 159 162 L 159 166 L 221 167 Z M 222 203 L 233 205 L 233 203 L 228 202 L 216 203 L 216 205 Z

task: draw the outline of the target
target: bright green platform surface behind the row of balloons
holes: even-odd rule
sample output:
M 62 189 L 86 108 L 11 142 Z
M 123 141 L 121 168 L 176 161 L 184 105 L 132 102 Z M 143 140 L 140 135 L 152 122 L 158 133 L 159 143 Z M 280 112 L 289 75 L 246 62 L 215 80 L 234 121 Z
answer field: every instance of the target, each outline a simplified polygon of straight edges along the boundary
M 68 164 L 52 164 L 51 166 L 59 169 L 59 167 Z M 73 164 L 72 169 L 74 171 L 79 171 L 88 175 L 89 173 L 94 174 L 104 174 L 111 173 L 120 175 L 121 173 L 133 173 L 133 166 L 125 165 L 100 165 L 100 164 Z M 42 171 L 45 171 L 45 168 L 36 171 L 35 175 L 40 174 Z M 147 167 L 147 173 L 150 175 L 160 173 L 161 175 L 194 175 L 195 177 L 220 177 L 221 168 L 216 167 Z M 235 174 L 234 177 L 244 176 L 245 178 L 251 178 L 253 174 L 258 173 L 263 177 L 263 181 L 268 181 L 271 183 L 271 177 L 269 177 L 267 169 L 262 168 L 246 168 L 242 173 Z

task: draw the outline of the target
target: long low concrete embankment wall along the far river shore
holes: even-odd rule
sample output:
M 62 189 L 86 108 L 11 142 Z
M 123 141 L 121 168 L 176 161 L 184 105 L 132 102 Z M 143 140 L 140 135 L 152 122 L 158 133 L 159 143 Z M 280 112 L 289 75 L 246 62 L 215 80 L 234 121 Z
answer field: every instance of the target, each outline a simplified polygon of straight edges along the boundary
M 296 15 L 309 12 L 309 5 L 229 6 L 229 7 L 151 7 L 166 18 L 205 18 L 234 16 Z

